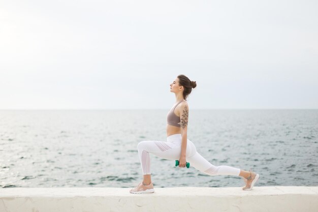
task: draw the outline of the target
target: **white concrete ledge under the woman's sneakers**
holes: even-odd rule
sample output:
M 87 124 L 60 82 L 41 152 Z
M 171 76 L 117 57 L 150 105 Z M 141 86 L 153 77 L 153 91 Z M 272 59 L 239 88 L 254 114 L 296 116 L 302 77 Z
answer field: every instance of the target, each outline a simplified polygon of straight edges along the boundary
M 318 211 L 318 187 L 155 188 L 130 194 L 126 188 L 0 189 L 1 212 L 77 211 Z

